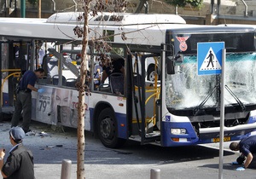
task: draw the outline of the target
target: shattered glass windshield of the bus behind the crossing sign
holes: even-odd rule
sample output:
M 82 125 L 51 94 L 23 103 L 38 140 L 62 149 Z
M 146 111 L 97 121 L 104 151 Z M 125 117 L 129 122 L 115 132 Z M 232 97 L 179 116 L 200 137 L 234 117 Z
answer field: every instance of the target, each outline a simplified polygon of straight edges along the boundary
M 256 102 L 256 54 L 226 55 L 225 106 Z M 196 56 L 184 56 L 175 64 L 175 74 L 166 74 L 166 107 L 185 109 L 219 107 L 221 75 L 197 75 Z M 203 102 L 204 101 L 204 102 Z

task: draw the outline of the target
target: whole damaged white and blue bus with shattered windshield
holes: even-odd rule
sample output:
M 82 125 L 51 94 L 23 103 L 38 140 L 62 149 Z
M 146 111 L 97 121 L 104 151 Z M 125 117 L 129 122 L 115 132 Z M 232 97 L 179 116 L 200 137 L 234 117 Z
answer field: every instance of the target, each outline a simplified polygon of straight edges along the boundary
M 73 29 L 83 26 L 83 21 L 77 21 L 80 14 L 58 13 L 49 19 L 0 18 L 2 63 L 9 64 L 3 67 L 20 69 L 12 61 L 21 61 L 26 55 L 26 61 L 20 63 L 26 67 L 21 70 L 33 70 L 38 67 L 35 52 L 40 43 L 52 43 L 54 47 L 46 48 L 43 67 L 47 77 L 37 84 L 45 92 L 32 92 L 33 120 L 77 127 L 79 93 L 75 84 L 80 75 L 81 38 Z M 196 47 L 200 42 L 226 45 L 230 93 L 225 98 L 225 141 L 241 139 L 255 129 L 254 28 L 187 25 L 174 14 L 106 13 L 89 16 L 89 29 L 84 130 L 95 132 L 106 147 L 119 147 L 127 139 L 164 147 L 219 140 L 221 77 L 196 75 Z M 94 48 L 103 39 L 112 48 L 104 54 L 106 57 L 125 60 L 125 78 L 120 81 L 123 94 L 113 93 L 114 83 L 110 80 L 110 84 L 99 84 L 102 67 L 97 60 L 102 54 Z M 13 58 L 15 44 L 20 55 Z M 4 49 L 8 49 L 8 55 L 4 56 Z M 154 71 L 149 72 L 152 64 Z M 239 66 L 247 66 L 249 71 Z M 10 91 L 15 87 L 9 85 L 14 73 L 8 74 L 2 79 L 3 113 L 5 107 L 14 107 Z M 243 74 L 245 80 L 236 74 Z

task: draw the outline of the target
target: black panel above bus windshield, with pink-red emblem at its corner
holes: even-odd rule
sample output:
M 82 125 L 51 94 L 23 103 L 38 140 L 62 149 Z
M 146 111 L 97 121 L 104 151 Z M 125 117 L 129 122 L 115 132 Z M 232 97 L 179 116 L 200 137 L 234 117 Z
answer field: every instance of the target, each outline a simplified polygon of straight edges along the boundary
M 245 53 L 255 51 L 255 32 L 197 32 L 172 33 L 171 42 L 174 43 L 174 54 L 195 55 L 197 43 L 224 42 L 227 52 Z M 180 45 L 183 45 L 181 48 Z

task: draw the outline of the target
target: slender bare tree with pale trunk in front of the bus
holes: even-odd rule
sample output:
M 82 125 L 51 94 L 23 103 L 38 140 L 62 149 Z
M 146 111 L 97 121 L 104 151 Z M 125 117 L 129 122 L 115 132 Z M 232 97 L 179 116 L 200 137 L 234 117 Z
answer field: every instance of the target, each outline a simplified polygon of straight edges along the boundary
M 88 43 L 89 43 L 89 23 L 88 23 L 88 17 L 89 14 L 95 16 L 97 12 L 102 12 L 106 9 L 114 10 L 114 11 L 120 11 L 121 9 L 124 9 L 126 7 L 126 3 L 121 0 L 121 2 L 118 1 L 108 1 L 108 0 L 79 0 L 79 3 L 83 4 L 84 13 L 80 14 L 78 17 L 78 20 L 84 20 L 84 26 L 83 28 L 76 26 L 74 27 L 74 33 L 82 39 L 82 52 L 81 52 L 81 66 L 80 66 L 80 78 L 79 83 L 76 84 L 77 90 L 79 90 L 79 118 L 78 118 L 78 152 L 77 152 L 77 178 L 78 179 L 84 179 L 85 178 L 85 170 L 84 170 L 84 152 L 85 152 L 85 137 L 84 137 L 84 116 L 85 116 L 85 107 L 84 107 L 84 96 L 90 94 L 90 91 L 88 90 L 88 86 L 85 84 L 86 78 L 87 78 L 87 66 L 89 57 L 86 53 L 86 49 L 88 49 Z M 101 43 L 98 43 L 97 40 L 95 40 L 94 43 L 100 44 L 96 46 L 97 49 L 104 49 L 104 51 L 108 51 L 110 46 L 108 46 L 107 43 L 102 43 L 102 39 L 100 40 Z M 102 48 L 103 47 L 103 48 Z M 104 53 L 102 51 L 102 54 Z M 105 55 L 101 55 L 102 60 L 108 61 L 108 58 L 106 58 Z

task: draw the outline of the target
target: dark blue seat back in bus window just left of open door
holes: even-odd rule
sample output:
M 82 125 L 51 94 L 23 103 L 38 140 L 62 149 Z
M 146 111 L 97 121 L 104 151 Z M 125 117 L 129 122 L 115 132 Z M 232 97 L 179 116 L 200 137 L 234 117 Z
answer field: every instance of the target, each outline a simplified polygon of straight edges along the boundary
M 110 74 L 109 84 L 113 94 L 124 94 L 124 75 L 119 72 Z

